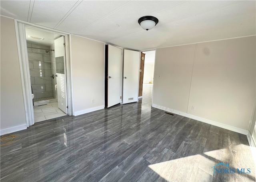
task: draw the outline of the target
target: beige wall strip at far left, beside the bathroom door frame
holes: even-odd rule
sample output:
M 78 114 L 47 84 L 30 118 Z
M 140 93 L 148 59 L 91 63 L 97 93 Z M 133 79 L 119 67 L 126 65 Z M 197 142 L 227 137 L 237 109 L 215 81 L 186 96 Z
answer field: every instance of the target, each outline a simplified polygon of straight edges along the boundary
M 25 126 L 25 108 L 14 20 L 1 16 L 1 132 Z M 19 127 L 18 127 L 19 128 Z M 18 129 L 17 128 L 17 129 Z M 23 127 L 24 129 L 24 127 Z M 15 129 L 14 129 L 15 130 Z M 19 129 L 18 129 L 19 130 Z M 12 131 L 12 130 L 10 130 Z M 2 133 L 3 134 L 3 133 Z

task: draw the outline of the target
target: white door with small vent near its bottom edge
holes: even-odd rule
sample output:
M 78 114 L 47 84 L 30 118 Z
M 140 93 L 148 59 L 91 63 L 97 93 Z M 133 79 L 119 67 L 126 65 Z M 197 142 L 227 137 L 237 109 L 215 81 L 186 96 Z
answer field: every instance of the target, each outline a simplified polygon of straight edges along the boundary
M 140 52 L 124 50 L 123 104 L 138 101 Z

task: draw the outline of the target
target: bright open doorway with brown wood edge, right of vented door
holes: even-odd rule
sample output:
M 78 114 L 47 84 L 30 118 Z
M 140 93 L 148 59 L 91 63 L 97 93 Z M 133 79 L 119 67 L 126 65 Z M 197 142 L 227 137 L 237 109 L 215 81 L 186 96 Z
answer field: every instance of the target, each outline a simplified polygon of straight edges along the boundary
M 154 66 L 156 50 L 140 53 L 140 82 L 139 98 L 152 102 L 152 90 L 154 84 Z

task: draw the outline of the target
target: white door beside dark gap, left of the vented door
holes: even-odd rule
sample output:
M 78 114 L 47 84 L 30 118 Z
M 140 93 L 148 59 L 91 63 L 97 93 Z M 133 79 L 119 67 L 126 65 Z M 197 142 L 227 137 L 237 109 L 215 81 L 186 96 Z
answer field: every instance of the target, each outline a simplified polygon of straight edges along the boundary
M 108 45 L 107 107 L 120 103 L 122 77 L 122 49 Z

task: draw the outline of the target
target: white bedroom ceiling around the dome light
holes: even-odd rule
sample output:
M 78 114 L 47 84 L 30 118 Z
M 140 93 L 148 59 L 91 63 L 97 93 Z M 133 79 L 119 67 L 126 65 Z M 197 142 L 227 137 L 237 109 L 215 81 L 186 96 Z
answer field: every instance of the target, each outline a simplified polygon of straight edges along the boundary
M 133 50 L 256 34 L 256 1 L 1 0 L 1 14 Z M 151 30 L 138 24 L 155 16 Z

